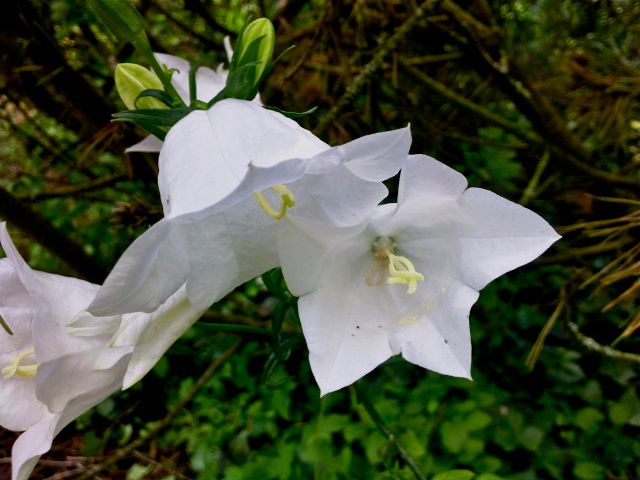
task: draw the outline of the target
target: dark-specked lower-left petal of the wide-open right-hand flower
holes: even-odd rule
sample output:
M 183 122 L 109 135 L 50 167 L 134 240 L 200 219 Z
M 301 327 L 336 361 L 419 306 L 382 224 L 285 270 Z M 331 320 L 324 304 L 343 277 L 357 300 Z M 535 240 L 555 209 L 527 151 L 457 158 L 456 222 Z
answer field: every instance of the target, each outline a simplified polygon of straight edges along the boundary
M 350 242 L 334 253 L 323 287 L 299 301 L 321 395 L 355 382 L 393 354 L 387 328 L 395 319 L 390 296 L 396 290 L 366 283 L 374 266 L 370 245 Z

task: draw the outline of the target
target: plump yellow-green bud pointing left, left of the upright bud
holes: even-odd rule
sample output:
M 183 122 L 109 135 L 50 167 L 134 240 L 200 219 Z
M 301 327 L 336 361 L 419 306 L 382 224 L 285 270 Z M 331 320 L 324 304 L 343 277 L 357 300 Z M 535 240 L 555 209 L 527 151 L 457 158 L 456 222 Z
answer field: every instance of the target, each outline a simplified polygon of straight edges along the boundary
M 116 89 L 129 110 L 136 108 L 167 108 L 152 97 L 136 99 L 145 90 L 162 90 L 162 82 L 155 73 L 135 63 L 119 63 L 116 66 Z

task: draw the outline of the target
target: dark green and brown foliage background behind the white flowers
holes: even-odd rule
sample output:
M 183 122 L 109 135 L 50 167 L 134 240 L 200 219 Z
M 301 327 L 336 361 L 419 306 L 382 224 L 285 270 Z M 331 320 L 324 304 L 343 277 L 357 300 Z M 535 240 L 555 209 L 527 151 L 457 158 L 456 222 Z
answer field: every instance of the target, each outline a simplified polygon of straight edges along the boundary
M 640 478 L 640 2 L 136 5 L 154 49 L 213 67 L 224 35 L 268 16 L 276 53 L 297 47 L 266 103 L 318 106 L 301 122 L 331 144 L 410 122 L 412 152 L 530 206 L 564 238 L 482 292 L 473 382 L 394 359 L 319 398 L 274 272 L 67 428 L 33 478 L 117 460 L 92 478 L 410 479 L 408 457 L 424 478 Z M 113 68 L 142 59 L 80 0 L 6 2 L 0 24 L 0 217 L 35 268 L 100 282 L 161 215 L 157 159 L 123 154 L 142 132 L 109 121 L 124 108 Z M 2 478 L 15 437 L 0 433 Z

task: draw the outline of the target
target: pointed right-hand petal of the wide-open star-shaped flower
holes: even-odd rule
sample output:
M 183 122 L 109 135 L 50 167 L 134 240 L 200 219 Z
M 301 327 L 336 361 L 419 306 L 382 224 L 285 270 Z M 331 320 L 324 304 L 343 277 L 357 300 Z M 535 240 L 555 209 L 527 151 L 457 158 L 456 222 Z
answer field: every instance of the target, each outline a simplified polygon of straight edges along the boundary
M 541 255 L 560 237 L 539 215 L 492 192 L 470 188 L 458 201 L 417 215 L 419 202 L 400 206 L 403 255 L 433 262 L 476 290 Z M 411 224 L 413 220 L 413 224 Z M 432 272 L 422 272 L 430 275 Z

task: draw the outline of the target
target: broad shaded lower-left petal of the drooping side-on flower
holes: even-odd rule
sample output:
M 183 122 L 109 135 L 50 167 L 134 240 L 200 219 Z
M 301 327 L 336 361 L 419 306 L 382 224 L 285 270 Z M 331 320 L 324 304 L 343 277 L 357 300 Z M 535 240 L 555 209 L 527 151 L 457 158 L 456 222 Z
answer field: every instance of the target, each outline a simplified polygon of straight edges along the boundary
M 157 223 L 125 251 L 88 310 L 151 313 L 185 283 L 193 306 L 206 309 L 277 264 L 276 222 L 250 197 Z

